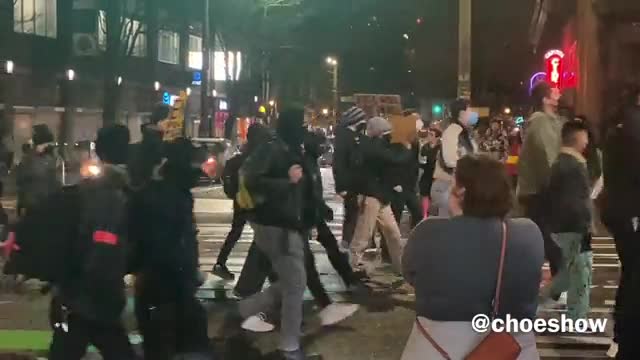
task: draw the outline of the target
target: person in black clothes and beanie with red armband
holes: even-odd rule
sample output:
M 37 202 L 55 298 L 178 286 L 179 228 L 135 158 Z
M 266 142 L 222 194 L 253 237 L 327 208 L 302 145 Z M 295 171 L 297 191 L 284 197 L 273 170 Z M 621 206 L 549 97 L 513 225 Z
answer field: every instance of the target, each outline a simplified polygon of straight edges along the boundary
M 129 130 L 121 125 L 98 132 L 96 153 L 103 175 L 79 185 L 82 221 L 67 278 L 54 284 L 50 321 L 52 360 L 80 360 L 93 344 L 105 360 L 134 359 L 121 321 L 126 303 Z

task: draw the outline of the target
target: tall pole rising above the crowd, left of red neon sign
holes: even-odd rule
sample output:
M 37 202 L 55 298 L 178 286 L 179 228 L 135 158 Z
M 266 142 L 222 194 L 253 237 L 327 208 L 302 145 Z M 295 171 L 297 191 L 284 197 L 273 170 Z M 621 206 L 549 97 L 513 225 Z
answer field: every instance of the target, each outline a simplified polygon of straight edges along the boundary
M 471 98 L 471 0 L 458 0 L 458 97 Z

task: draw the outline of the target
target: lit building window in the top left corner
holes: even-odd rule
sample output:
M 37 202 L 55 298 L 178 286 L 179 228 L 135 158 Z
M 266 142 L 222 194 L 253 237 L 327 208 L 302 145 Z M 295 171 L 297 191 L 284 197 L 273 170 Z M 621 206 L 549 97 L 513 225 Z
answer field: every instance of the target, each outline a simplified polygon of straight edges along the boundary
M 13 30 L 18 33 L 56 38 L 56 0 L 13 0 Z

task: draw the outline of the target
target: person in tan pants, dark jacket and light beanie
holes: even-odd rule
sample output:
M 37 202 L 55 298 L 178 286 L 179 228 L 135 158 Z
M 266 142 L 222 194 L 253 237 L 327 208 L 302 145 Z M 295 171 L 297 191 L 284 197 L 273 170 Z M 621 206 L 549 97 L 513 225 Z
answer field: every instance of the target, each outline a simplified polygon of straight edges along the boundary
M 362 270 L 363 255 L 376 225 L 382 230 L 394 270 L 401 270 L 403 244 L 390 206 L 393 185 L 389 185 L 386 177 L 391 166 L 406 162 L 411 154 L 403 144 L 390 144 L 390 131 L 391 125 L 386 119 L 374 117 L 368 121 L 367 138 L 360 144 L 366 166 L 361 174 L 360 212 L 351 243 L 351 265 L 355 270 Z

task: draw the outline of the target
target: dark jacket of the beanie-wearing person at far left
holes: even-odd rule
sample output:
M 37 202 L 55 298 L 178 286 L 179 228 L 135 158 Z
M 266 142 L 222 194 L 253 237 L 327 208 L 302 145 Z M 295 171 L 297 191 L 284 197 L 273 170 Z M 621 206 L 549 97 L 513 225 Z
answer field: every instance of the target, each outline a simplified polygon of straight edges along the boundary
M 52 153 L 32 152 L 18 165 L 16 185 L 22 208 L 38 206 L 49 195 L 60 190 L 57 159 Z

